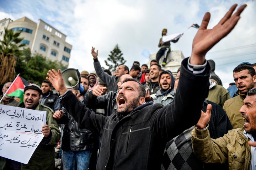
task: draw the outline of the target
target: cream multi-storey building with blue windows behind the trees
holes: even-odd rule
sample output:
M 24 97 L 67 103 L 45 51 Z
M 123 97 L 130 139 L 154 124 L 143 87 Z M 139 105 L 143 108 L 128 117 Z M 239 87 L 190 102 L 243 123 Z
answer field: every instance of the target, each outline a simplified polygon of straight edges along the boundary
M 26 44 L 31 49 L 31 53 L 39 53 L 52 61 L 62 61 L 68 65 L 72 45 L 67 43 L 66 35 L 53 28 L 43 20 L 39 19 L 35 23 L 27 17 L 22 17 L 16 21 L 10 18 L 0 20 L 0 40 L 4 38 L 4 28 L 13 31 L 21 31 L 20 37 L 24 39 L 21 43 Z

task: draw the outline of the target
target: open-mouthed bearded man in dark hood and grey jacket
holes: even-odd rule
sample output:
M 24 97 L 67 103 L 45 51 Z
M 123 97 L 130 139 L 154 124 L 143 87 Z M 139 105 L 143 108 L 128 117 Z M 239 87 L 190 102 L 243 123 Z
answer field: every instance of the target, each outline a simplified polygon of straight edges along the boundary
M 174 76 L 170 71 L 162 71 L 159 75 L 160 90 L 153 97 L 154 103 L 161 103 L 164 106 L 172 102 L 174 98 Z

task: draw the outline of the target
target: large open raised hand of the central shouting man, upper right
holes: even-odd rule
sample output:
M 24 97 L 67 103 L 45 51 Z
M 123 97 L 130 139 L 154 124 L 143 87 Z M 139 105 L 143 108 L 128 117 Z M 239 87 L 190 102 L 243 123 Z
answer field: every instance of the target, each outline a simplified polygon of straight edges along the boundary
M 205 61 L 206 53 L 217 44 L 222 38 L 228 35 L 235 27 L 240 19 L 241 12 L 245 9 L 246 4 L 241 5 L 238 10 L 232 15 L 237 4 L 231 6 L 225 16 L 213 29 L 207 29 L 210 21 L 210 13 L 206 12 L 203 17 L 201 26 L 199 27 L 196 36 L 193 39 L 192 53 L 190 63 L 193 65 L 202 65 Z

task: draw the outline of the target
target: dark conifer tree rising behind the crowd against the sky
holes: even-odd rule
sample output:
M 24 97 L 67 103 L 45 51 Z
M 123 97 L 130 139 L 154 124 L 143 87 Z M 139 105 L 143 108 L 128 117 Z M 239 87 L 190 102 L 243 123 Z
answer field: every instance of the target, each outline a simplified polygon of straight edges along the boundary
M 110 55 L 108 55 L 109 57 L 107 58 L 107 60 L 105 60 L 105 64 L 108 66 L 108 70 L 110 70 L 111 72 L 116 71 L 116 68 L 119 65 L 123 65 L 125 64 L 126 60 L 124 60 L 123 58 L 123 53 L 122 51 L 119 49 L 118 44 L 114 47 L 114 49 L 112 51 L 110 51 Z M 110 63 L 108 63 L 108 61 Z

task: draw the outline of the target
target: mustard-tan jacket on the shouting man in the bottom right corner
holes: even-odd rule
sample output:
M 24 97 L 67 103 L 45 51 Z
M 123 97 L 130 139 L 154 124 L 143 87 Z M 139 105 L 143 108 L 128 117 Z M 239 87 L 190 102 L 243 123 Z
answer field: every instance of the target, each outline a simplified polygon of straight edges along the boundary
M 228 131 L 223 137 L 211 139 L 208 128 L 194 129 L 191 140 L 194 154 L 205 163 L 225 163 L 230 170 L 248 170 L 251 165 L 251 147 L 243 132 L 245 128 Z

